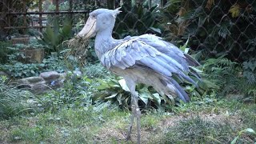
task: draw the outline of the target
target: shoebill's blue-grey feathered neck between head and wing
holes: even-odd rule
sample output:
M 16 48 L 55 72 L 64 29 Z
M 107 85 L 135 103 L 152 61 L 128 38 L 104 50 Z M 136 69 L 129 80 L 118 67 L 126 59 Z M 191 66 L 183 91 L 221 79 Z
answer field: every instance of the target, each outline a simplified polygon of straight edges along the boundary
M 114 41 L 112 30 L 110 29 L 102 30 L 96 34 L 94 47 L 98 58 L 101 58 L 108 50 L 113 49 L 112 44 Z

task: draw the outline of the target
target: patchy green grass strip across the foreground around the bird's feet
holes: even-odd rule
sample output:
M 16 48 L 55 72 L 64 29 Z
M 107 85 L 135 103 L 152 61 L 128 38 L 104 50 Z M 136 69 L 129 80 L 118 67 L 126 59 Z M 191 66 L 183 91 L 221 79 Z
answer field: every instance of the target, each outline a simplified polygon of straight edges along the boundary
M 136 143 L 135 125 L 132 141 L 124 140 L 129 122 L 129 111 L 113 107 L 16 116 L 0 121 L 0 143 Z M 148 110 L 141 124 L 142 143 L 230 143 L 242 130 L 256 130 L 256 104 L 190 102 L 174 113 Z M 241 133 L 237 142 L 256 142 L 256 135 Z

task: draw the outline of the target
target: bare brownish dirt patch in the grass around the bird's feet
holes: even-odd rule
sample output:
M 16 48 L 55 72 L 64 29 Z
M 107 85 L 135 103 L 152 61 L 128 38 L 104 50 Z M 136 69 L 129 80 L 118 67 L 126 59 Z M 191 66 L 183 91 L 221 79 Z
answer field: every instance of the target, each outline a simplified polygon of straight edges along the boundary
M 143 117 L 143 115 L 142 115 Z M 225 124 L 229 122 L 230 125 L 238 126 L 242 124 L 242 118 L 238 114 L 206 114 L 204 112 L 198 114 L 180 114 L 173 115 L 170 118 L 164 118 L 155 126 L 153 129 L 142 128 L 141 130 L 141 142 L 142 143 L 154 143 L 156 139 L 161 139 L 165 131 L 172 126 L 178 126 L 179 122 L 186 121 L 190 118 L 199 117 L 206 122 L 214 122 L 219 124 Z M 127 125 L 128 128 L 128 125 Z M 127 129 L 126 129 L 127 130 Z M 134 122 L 134 127 L 131 134 L 131 140 L 126 142 L 126 132 L 125 130 L 117 129 L 114 126 L 102 129 L 96 136 L 96 141 L 100 143 L 110 142 L 111 139 L 118 143 L 136 143 L 137 142 L 137 128 L 136 122 Z M 111 138 L 111 139 L 110 139 Z M 154 142 L 152 142 L 154 141 Z

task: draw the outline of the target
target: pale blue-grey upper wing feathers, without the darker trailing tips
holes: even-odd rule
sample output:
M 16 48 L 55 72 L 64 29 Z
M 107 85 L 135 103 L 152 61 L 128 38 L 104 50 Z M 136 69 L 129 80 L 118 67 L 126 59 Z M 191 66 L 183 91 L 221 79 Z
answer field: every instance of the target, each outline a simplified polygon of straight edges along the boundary
M 154 66 L 154 69 L 158 70 L 158 73 L 166 74 L 166 72 L 156 69 L 157 66 L 164 67 L 166 70 L 169 70 L 167 75 L 171 75 L 170 73 L 180 74 L 183 71 L 187 72 L 189 70 L 186 57 L 177 47 L 170 44 L 168 48 L 167 42 L 162 41 L 162 38 L 154 35 L 145 34 L 141 37 L 126 40 L 114 49 L 106 52 L 106 54 L 103 54 L 102 58 L 104 58 L 104 61 L 101 61 L 103 66 L 106 66 L 108 69 L 111 66 L 126 69 L 134 66 L 136 62 L 142 62 L 144 66 L 152 69 Z M 152 65 L 152 58 L 158 65 L 155 65 L 155 63 Z M 146 62 L 146 60 L 150 62 Z

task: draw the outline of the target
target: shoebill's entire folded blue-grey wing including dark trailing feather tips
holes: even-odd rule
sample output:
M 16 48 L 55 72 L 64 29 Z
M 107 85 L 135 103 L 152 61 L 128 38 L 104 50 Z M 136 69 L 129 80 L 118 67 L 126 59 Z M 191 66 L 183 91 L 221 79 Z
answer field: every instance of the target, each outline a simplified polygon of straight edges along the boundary
M 139 37 L 126 38 L 114 49 L 102 55 L 102 65 L 107 69 L 118 67 L 122 70 L 133 66 L 145 66 L 166 78 L 174 85 L 175 91 L 184 102 L 190 100 L 186 92 L 179 86 L 179 82 L 190 82 L 198 86 L 188 74 L 197 76 L 197 73 L 190 70 L 190 65 L 198 65 L 194 58 L 183 54 L 178 47 L 162 38 L 150 34 Z M 173 78 L 172 78 L 173 76 Z

